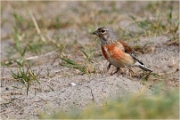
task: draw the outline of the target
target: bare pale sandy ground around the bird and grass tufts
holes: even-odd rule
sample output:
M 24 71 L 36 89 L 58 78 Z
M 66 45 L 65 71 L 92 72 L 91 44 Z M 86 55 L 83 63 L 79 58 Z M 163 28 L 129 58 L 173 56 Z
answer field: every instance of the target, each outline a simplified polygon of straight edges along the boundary
M 108 26 L 111 26 L 115 31 L 118 31 L 117 25 L 123 27 L 125 30 L 139 30 L 136 26 L 130 24 L 127 14 L 138 13 L 140 7 L 146 6 L 147 3 L 148 2 L 133 2 L 133 4 L 130 5 L 128 2 L 115 2 L 116 7 L 120 10 L 123 9 L 123 6 L 127 5 L 129 5 L 130 8 L 124 8 L 123 11 L 119 13 L 121 22 Z M 8 53 L 6 51 L 13 45 L 12 37 L 7 36 L 13 34 L 14 19 L 12 13 L 14 11 L 21 14 L 26 19 L 31 20 L 25 9 L 28 6 L 35 14 L 36 19 L 47 19 L 47 22 L 48 18 L 54 18 L 57 15 L 63 15 L 62 13 L 65 13 L 65 19 L 72 19 L 74 17 L 74 24 L 80 24 L 79 19 L 75 17 L 81 17 L 78 13 L 79 10 L 82 9 L 82 13 L 88 12 L 89 15 L 87 15 L 87 19 L 98 19 L 100 21 L 98 16 L 97 18 L 91 18 L 91 12 L 104 8 L 107 10 L 111 9 L 108 5 L 108 2 L 3 3 L 1 10 L 1 17 L 4 21 L 4 24 L 1 23 L 1 60 L 5 61 L 7 59 Z M 84 6 L 86 6 L 86 8 Z M 175 11 L 175 13 L 177 11 Z M 67 14 L 72 14 L 72 16 L 69 17 Z M 139 16 L 143 15 L 140 14 Z M 65 19 L 63 20 L 65 21 Z M 98 26 L 99 25 L 96 24 L 93 30 L 96 30 Z M 77 40 L 83 40 L 83 42 L 77 41 L 77 44 L 88 46 L 93 39 L 97 39 L 90 35 L 90 31 L 91 29 L 85 26 L 78 28 L 76 25 L 73 25 L 58 30 L 48 30 L 46 31 L 46 35 L 53 37 L 54 34 L 63 34 L 66 43 L 70 42 L 73 37 L 76 37 Z M 69 34 L 70 38 L 68 38 Z M 38 65 L 33 66 L 32 69 L 35 72 L 40 71 L 38 77 L 40 84 L 32 83 L 28 95 L 22 83 L 14 80 L 10 74 L 10 71 L 17 70 L 17 65 L 12 64 L 8 67 L 1 66 L 0 113 L 2 119 L 38 119 L 38 114 L 43 111 L 55 109 L 68 111 L 70 107 L 84 108 L 92 103 L 102 104 L 107 101 L 108 98 L 115 98 L 116 96 L 123 97 L 127 94 L 136 94 L 139 92 L 147 92 L 147 95 L 150 95 L 153 88 L 162 84 L 166 84 L 168 88 L 179 86 L 178 45 L 167 45 L 166 43 L 169 42 L 169 38 L 166 35 L 142 37 L 139 41 L 135 42 L 129 40 L 127 42 L 130 46 L 135 44 L 139 46 L 148 46 L 145 49 L 145 53 L 138 51 L 135 53 L 138 54 L 138 58 L 143 61 L 146 66 L 150 67 L 154 73 L 167 74 L 165 77 L 161 78 L 164 82 L 156 82 L 159 81 L 160 78 L 156 79 L 153 76 L 151 76 L 151 79 L 148 81 L 142 81 L 139 77 L 130 77 L 128 74 L 122 75 L 121 73 L 111 76 L 106 71 L 107 61 L 102 55 L 96 56 L 96 58 L 94 58 L 96 61 L 92 63 L 97 69 L 96 73 L 90 75 L 81 74 L 79 70 L 61 66 L 60 63 L 62 63 L 62 60 L 57 58 L 59 53 L 56 51 L 49 51 L 42 55 L 38 55 L 38 58 L 32 60 L 38 63 Z M 98 47 L 100 46 L 97 45 L 97 49 Z M 70 48 L 69 51 L 67 51 L 67 53 L 69 53 L 67 56 L 69 55 L 72 59 L 77 61 L 79 59 L 81 60 L 82 56 L 77 56 L 78 53 L 70 54 L 73 51 Z M 100 53 L 100 51 L 97 52 Z M 29 58 L 32 56 L 34 55 L 27 54 L 26 57 Z M 112 68 L 111 71 L 112 70 L 114 69 Z M 136 72 L 138 72 L 138 70 L 139 69 L 135 69 Z M 142 74 L 142 72 L 139 74 Z M 73 86 L 72 83 L 76 85 Z

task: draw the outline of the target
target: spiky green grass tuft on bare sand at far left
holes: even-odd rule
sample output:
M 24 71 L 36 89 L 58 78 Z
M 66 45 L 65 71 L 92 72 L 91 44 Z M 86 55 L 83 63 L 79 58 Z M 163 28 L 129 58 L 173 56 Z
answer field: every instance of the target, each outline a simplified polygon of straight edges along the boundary
M 20 63 L 19 63 L 20 64 Z M 21 66 L 21 65 L 20 65 Z M 32 71 L 30 68 L 31 66 L 29 66 L 27 69 L 24 69 L 22 67 L 18 67 L 17 72 L 13 72 L 11 71 L 11 76 L 20 81 L 23 85 L 25 85 L 26 87 L 26 93 L 28 95 L 29 92 L 29 88 L 30 85 L 33 81 L 36 81 L 37 83 L 40 84 L 40 82 L 38 81 L 37 78 L 37 74 L 34 73 L 34 71 Z

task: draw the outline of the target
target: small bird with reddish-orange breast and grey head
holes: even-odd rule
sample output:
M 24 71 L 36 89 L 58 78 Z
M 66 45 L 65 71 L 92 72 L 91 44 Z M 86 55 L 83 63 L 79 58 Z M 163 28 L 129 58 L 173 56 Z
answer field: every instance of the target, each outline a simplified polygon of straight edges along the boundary
M 132 67 L 139 67 L 147 72 L 153 72 L 137 58 L 126 42 L 118 39 L 116 33 L 111 28 L 100 27 L 92 34 L 100 38 L 102 54 L 109 61 L 107 71 L 111 65 L 116 67 L 116 71 L 112 75 L 124 67 L 128 67 L 130 72 L 133 72 L 131 70 Z

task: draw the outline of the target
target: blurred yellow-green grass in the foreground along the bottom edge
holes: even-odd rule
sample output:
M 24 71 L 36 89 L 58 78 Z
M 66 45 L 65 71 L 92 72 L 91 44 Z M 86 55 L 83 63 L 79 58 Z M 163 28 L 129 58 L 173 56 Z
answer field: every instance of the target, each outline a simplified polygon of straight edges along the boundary
M 53 111 L 40 114 L 40 119 L 178 119 L 179 91 L 156 91 L 106 101 L 104 104 L 90 105 L 84 110 L 70 112 Z

